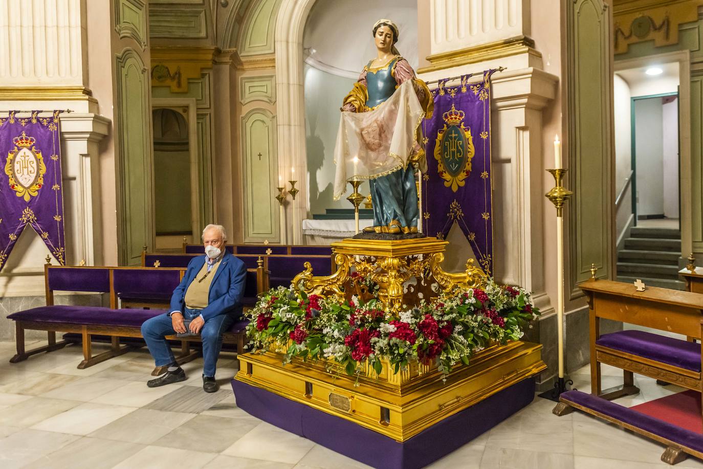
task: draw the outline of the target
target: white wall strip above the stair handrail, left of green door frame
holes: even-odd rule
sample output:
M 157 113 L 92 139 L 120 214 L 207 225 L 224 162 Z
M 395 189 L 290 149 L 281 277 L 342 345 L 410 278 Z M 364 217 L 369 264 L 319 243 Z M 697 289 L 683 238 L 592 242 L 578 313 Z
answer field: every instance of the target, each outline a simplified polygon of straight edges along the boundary
M 615 193 L 619 194 L 632 170 L 632 121 L 630 113 L 631 94 L 627 82 L 614 75 L 614 129 L 615 129 Z M 632 187 L 627 189 L 617 207 L 616 231 L 618 237 L 628 226 L 632 214 Z

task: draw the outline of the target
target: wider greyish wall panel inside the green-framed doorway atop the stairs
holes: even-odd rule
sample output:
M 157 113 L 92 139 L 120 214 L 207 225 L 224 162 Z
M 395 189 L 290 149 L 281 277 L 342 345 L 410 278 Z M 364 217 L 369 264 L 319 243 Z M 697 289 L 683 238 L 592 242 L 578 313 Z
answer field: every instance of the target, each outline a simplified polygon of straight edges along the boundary
M 637 214 L 664 214 L 662 98 L 635 101 Z

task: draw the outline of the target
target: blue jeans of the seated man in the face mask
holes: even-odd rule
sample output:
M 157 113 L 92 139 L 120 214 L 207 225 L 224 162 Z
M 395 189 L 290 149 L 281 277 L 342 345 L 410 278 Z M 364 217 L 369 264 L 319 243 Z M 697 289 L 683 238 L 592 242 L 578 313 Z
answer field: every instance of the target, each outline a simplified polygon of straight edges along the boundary
M 183 319 L 195 319 L 200 316 L 200 311 L 188 309 L 183 312 Z M 214 376 L 217 368 L 217 356 L 222 348 L 222 333 L 231 326 L 234 319 L 229 314 L 221 314 L 205 321 L 200 329 L 202 340 L 202 374 Z M 171 318 L 167 314 L 154 316 L 141 325 L 141 335 L 146 340 L 151 356 L 154 357 L 156 366 L 172 364 L 176 361 L 171 347 L 166 342 L 167 335 L 175 335 Z

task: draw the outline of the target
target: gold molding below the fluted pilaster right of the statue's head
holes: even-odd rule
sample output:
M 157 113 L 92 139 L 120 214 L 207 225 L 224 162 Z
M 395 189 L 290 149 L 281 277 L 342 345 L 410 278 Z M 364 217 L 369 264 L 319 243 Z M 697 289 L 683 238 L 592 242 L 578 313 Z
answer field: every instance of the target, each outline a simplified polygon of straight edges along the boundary
M 467 63 L 517 56 L 522 53 L 529 53 L 536 57 L 542 56 L 541 53 L 534 49 L 534 40 L 527 36 L 515 36 L 501 41 L 487 42 L 486 44 L 458 49 L 457 51 L 427 56 L 427 61 L 432 65 L 418 69 L 418 73 L 434 72 L 458 65 L 466 65 Z

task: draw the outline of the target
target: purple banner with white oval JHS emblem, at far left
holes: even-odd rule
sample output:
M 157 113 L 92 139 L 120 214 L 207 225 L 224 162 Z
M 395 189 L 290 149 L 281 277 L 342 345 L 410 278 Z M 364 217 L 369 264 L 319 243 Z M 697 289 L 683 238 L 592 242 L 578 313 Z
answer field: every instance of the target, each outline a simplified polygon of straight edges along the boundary
M 65 264 L 58 115 L 0 118 L 0 270 L 25 226 Z M 26 114 L 26 113 L 25 113 Z

